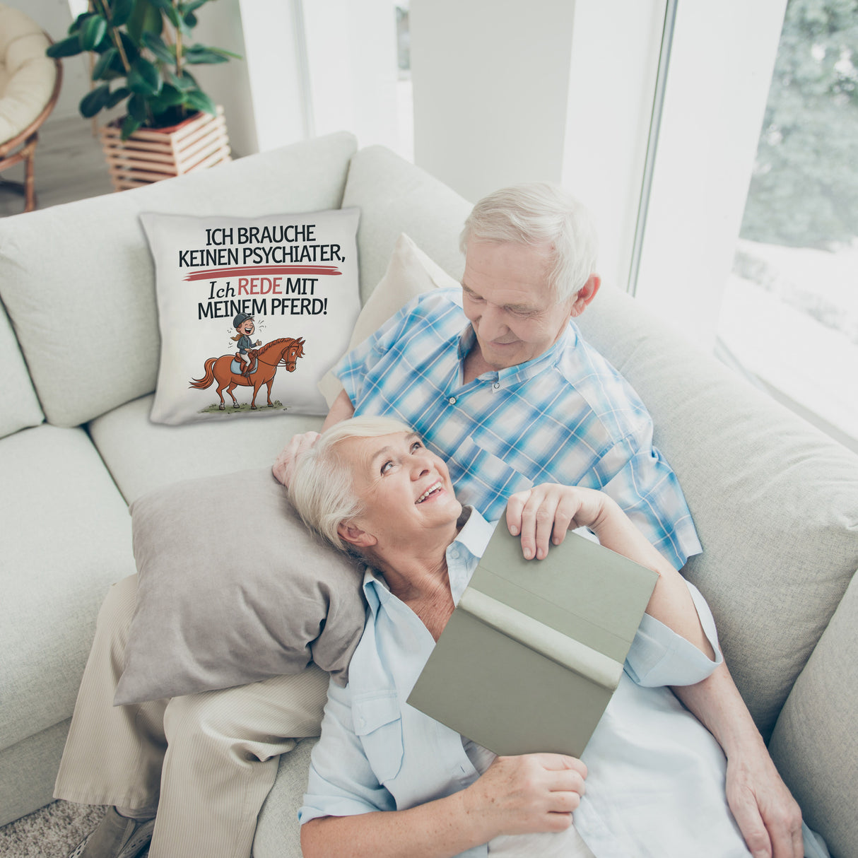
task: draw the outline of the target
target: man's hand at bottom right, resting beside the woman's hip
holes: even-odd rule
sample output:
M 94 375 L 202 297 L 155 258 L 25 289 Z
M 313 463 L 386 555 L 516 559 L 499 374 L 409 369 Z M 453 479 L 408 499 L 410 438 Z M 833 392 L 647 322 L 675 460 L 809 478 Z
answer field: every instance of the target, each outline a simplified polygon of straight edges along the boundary
M 801 809 L 767 752 L 727 763 L 727 801 L 754 858 L 803 858 Z

